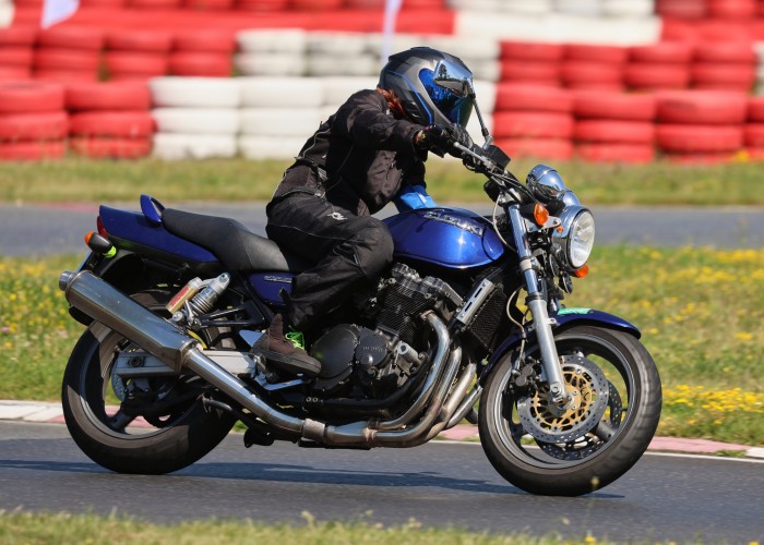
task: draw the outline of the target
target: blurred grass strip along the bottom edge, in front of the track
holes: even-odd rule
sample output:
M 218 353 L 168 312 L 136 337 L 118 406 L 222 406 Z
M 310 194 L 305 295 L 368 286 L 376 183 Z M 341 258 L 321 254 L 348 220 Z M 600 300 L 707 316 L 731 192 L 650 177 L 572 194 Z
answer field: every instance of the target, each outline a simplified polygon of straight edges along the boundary
M 575 535 L 575 534 L 574 534 Z M 28 513 L 0 511 L 0 544 L 252 544 L 299 543 L 301 545 L 558 545 L 613 543 L 583 532 L 580 537 L 525 533 L 488 534 L 453 528 L 423 528 L 416 520 L 395 526 L 371 522 L 317 522 L 303 513 L 299 524 L 266 525 L 244 521 L 194 521 L 154 524 L 126 517 L 94 514 Z M 654 542 L 652 542 L 654 543 Z

